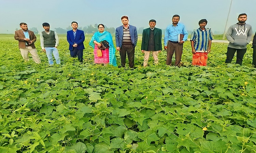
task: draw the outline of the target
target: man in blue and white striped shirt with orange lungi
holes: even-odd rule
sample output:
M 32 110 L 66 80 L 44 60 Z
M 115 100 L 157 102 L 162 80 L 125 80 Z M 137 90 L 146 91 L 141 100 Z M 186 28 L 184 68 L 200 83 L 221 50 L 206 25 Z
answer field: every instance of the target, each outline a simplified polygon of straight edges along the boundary
M 212 40 L 214 38 L 212 30 L 209 28 L 205 29 L 206 24 L 206 19 L 200 20 L 200 28 L 194 30 L 191 34 L 190 42 L 193 53 L 192 65 L 207 65 L 208 53 L 211 52 Z

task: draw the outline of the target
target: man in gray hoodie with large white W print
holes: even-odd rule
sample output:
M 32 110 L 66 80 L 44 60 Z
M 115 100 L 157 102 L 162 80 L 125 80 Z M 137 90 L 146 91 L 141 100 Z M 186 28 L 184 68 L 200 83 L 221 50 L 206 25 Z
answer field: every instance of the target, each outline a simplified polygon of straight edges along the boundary
M 238 23 L 229 27 L 226 37 L 229 41 L 227 50 L 227 59 L 225 63 L 231 63 L 234 54 L 237 52 L 236 64 L 242 65 L 244 54 L 247 50 L 247 44 L 252 40 L 252 26 L 246 24 L 247 15 L 245 13 L 238 16 Z

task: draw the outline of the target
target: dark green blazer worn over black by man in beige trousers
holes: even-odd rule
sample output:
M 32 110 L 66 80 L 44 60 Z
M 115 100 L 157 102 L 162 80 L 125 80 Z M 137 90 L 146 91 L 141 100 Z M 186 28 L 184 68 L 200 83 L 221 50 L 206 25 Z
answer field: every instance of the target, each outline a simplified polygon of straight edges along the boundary
M 150 28 L 144 29 L 142 33 L 142 42 L 141 42 L 141 50 L 147 50 L 148 41 L 150 37 Z M 162 30 L 155 28 L 154 29 L 154 39 L 155 39 L 155 48 L 156 50 L 162 50 Z

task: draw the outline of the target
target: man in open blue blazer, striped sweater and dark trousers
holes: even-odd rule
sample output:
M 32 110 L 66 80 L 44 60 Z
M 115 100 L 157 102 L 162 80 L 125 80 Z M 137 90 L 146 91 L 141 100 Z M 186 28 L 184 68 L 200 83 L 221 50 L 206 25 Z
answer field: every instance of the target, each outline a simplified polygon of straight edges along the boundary
M 123 26 L 116 28 L 116 50 L 120 53 L 121 65 L 125 67 L 126 53 L 129 67 L 134 69 L 134 53 L 137 45 L 138 35 L 136 27 L 128 24 L 128 17 L 121 18 Z

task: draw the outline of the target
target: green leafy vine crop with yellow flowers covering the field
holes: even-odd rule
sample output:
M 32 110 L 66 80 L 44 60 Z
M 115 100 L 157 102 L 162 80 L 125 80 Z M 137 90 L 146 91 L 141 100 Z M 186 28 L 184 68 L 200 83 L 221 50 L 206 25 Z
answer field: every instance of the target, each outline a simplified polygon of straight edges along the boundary
M 84 64 L 60 37 L 61 66 L 24 63 L 13 36 L 0 37 L 1 153 L 255 153 L 256 69 L 224 64 L 227 44 L 214 43 L 207 67 L 160 64 L 136 70 Z M 36 42 L 40 50 L 40 41 Z M 140 46 L 141 40 L 138 42 Z M 117 61 L 120 61 L 117 54 Z

